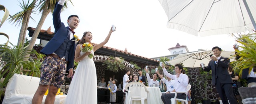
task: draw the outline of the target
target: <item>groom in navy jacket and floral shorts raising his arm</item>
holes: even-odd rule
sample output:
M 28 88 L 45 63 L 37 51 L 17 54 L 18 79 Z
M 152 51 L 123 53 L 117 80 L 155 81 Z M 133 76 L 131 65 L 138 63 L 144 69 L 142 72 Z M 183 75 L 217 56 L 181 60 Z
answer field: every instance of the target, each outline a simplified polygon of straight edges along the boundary
M 40 51 L 46 54 L 41 66 L 41 77 L 39 87 L 34 94 L 32 104 L 41 104 L 44 93 L 48 89 L 45 104 L 53 104 L 58 88 L 62 85 L 66 70 L 68 76 L 73 75 L 75 41 L 74 29 L 78 27 L 79 18 L 77 15 L 68 17 L 68 27 L 60 20 L 60 12 L 66 0 L 56 2 L 52 13 L 53 25 L 55 28 L 54 37 Z

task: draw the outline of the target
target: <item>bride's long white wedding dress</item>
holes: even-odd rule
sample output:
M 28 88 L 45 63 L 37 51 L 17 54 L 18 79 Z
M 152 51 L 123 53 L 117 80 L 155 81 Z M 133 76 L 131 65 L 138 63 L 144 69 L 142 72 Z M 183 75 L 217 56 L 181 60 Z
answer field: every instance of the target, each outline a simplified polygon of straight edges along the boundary
M 80 52 L 80 56 L 84 53 Z M 85 56 L 78 63 L 65 104 L 97 104 L 97 77 L 93 58 Z

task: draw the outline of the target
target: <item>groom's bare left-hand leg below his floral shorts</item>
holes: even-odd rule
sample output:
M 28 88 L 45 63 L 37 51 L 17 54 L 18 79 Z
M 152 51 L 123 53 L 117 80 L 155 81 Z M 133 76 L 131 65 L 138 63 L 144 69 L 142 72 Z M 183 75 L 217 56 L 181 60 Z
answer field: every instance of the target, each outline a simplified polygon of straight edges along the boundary
M 32 99 L 32 104 L 42 104 L 44 93 L 47 91 L 49 85 L 39 85 L 34 97 Z

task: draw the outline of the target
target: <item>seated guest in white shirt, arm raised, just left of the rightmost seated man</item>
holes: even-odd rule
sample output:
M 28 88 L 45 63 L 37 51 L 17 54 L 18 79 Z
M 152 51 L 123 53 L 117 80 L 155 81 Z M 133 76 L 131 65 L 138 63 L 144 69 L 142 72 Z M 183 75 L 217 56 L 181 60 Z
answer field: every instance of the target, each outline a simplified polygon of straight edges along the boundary
M 170 77 L 166 76 L 166 79 L 164 77 L 162 77 L 160 75 L 160 73 L 157 71 L 156 72 L 159 77 L 161 78 L 161 81 L 163 81 L 166 84 L 167 90 L 166 90 L 166 94 L 170 93 L 170 92 L 175 92 L 175 88 L 174 88 L 174 80 L 172 80 Z

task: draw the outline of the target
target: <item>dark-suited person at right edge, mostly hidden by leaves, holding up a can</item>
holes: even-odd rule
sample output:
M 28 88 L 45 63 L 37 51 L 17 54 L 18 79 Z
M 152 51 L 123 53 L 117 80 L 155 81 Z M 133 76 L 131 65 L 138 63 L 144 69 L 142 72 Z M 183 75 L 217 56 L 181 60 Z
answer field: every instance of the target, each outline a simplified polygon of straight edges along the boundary
M 236 45 L 233 45 L 233 48 L 235 50 L 238 50 Z M 241 56 L 239 56 L 237 52 L 235 52 L 235 54 L 236 54 L 236 60 L 241 58 Z M 250 70 L 250 71 L 249 71 L 249 69 L 250 69 L 250 67 L 242 70 L 241 78 L 246 79 L 247 84 L 252 83 L 252 82 L 256 83 L 256 66 L 252 67 L 252 70 Z

